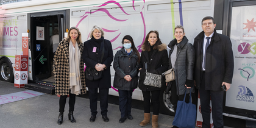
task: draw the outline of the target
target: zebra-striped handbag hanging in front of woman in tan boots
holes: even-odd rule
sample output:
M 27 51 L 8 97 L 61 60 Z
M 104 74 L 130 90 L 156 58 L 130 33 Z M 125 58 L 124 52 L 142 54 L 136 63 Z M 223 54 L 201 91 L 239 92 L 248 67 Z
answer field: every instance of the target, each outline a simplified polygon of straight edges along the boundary
M 161 88 L 162 87 L 162 75 L 158 75 L 158 74 L 154 74 L 154 73 L 148 73 L 147 69 L 148 69 L 148 62 L 145 62 L 145 69 L 146 69 L 146 73 L 145 73 L 145 79 L 143 84 L 144 85 L 149 85 L 152 87 L 157 87 L 157 88 Z

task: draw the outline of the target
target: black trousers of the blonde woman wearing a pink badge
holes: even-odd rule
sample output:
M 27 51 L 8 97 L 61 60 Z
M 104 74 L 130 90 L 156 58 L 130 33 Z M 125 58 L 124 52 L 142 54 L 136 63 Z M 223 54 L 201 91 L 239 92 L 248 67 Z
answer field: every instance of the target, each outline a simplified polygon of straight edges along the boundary
M 107 115 L 108 107 L 108 88 L 99 88 L 99 102 L 101 106 L 101 115 Z M 98 88 L 88 88 L 90 98 L 91 115 L 97 115 Z

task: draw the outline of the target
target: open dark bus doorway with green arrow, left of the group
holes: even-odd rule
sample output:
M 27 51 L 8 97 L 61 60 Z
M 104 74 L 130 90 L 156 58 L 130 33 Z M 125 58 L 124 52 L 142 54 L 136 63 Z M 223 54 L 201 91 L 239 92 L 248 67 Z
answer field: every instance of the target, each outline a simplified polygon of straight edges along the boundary
M 34 81 L 55 82 L 52 73 L 54 52 L 69 28 L 69 10 L 29 13 L 30 51 Z

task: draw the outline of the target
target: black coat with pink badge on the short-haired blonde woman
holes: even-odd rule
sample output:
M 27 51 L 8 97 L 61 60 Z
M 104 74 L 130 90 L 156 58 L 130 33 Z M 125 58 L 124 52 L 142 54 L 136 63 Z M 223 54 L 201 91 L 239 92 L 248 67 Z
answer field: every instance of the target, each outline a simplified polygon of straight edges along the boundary
M 103 37 L 102 37 L 103 38 Z M 93 47 L 97 47 L 96 52 L 93 52 Z M 99 46 L 95 44 L 93 39 L 84 42 L 83 60 L 87 67 L 95 68 L 97 63 L 101 62 L 99 55 Z M 88 80 L 85 78 L 85 82 L 88 88 L 110 88 L 111 87 L 111 76 L 110 76 L 110 66 L 113 61 L 113 50 L 112 44 L 109 40 L 104 39 L 104 57 L 102 59 L 102 64 L 107 66 L 104 69 L 103 78 L 99 80 Z

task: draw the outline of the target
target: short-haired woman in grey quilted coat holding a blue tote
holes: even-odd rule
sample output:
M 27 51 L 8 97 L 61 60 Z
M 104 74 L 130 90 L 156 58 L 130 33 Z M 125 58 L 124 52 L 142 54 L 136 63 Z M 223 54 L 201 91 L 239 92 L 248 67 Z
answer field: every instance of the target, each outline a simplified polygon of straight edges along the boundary
M 196 97 L 194 95 L 194 47 L 188 43 L 185 36 L 183 26 L 176 26 L 174 28 L 174 39 L 168 44 L 169 49 L 169 69 L 174 68 L 176 80 L 168 82 L 166 92 L 171 90 L 171 103 L 174 105 L 174 111 L 177 109 L 177 102 L 183 101 L 185 90 L 191 88 L 192 101 L 196 104 Z M 168 89 L 169 88 L 169 89 Z M 189 102 L 190 92 L 187 91 L 185 102 Z M 177 128 L 173 126 L 172 128 Z

